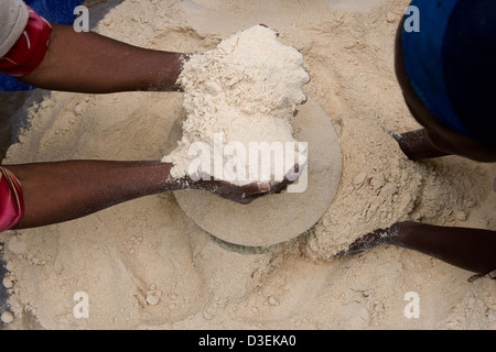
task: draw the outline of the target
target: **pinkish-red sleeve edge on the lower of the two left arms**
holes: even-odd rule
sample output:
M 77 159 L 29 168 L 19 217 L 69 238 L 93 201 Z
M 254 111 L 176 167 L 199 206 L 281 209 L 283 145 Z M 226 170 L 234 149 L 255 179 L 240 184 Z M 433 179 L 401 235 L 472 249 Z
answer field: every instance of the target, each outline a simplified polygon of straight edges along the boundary
M 0 232 L 17 226 L 23 215 L 21 183 L 11 172 L 0 167 Z

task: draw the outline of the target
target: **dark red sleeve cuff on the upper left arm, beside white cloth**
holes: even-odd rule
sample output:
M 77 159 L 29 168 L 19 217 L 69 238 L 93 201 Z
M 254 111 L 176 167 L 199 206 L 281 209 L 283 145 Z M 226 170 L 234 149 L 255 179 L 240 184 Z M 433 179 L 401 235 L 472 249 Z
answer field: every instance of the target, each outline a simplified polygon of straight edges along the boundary
M 23 77 L 40 66 L 45 57 L 52 25 L 44 18 L 28 7 L 30 18 L 21 37 L 6 56 L 0 58 L 0 72 Z

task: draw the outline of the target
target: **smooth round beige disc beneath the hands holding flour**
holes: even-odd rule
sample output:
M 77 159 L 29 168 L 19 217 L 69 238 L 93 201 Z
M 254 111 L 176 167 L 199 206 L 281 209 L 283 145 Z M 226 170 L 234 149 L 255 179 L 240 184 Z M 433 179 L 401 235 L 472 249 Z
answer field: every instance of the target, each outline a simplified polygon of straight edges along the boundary
M 308 166 L 287 193 L 238 205 L 208 191 L 180 190 L 174 196 L 181 208 L 206 232 L 245 246 L 269 246 L 310 229 L 336 195 L 342 153 L 331 119 L 312 99 L 300 107 L 293 130 L 296 141 L 308 142 Z

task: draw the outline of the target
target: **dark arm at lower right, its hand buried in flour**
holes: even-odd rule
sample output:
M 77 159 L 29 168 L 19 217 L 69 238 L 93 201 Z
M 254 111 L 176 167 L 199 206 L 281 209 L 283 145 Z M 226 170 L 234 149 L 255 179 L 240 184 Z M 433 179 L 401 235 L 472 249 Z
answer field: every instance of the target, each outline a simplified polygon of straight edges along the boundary
M 413 250 L 466 271 L 487 274 L 496 270 L 496 231 L 436 227 L 420 222 L 398 222 L 389 229 L 366 234 L 343 254 L 380 244 Z

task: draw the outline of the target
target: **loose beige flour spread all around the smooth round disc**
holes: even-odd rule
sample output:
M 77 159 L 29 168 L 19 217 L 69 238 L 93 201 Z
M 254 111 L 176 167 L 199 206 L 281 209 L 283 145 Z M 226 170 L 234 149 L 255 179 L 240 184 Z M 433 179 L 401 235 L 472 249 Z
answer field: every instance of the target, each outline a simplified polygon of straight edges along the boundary
M 295 240 L 247 252 L 209 237 L 162 194 L 4 232 L 8 328 L 496 328 L 494 280 L 468 283 L 470 272 L 395 246 L 332 257 L 363 232 L 402 219 L 496 230 L 495 165 L 454 156 L 413 163 L 391 138 L 419 128 L 392 66 L 409 1 L 270 2 L 123 1 L 98 31 L 191 53 L 255 24 L 277 29 L 302 52 L 312 76 L 305 94 L 341 141 L 342 183 L 321 221 Z M 157 160 L 181 109 L 181 94 L 52 92 L 30 107 L 30 127 L 3 163 Z M 74 315 L 80 292 L 89 318 Z M 403 314 L 411 292 L 419 318 Z

